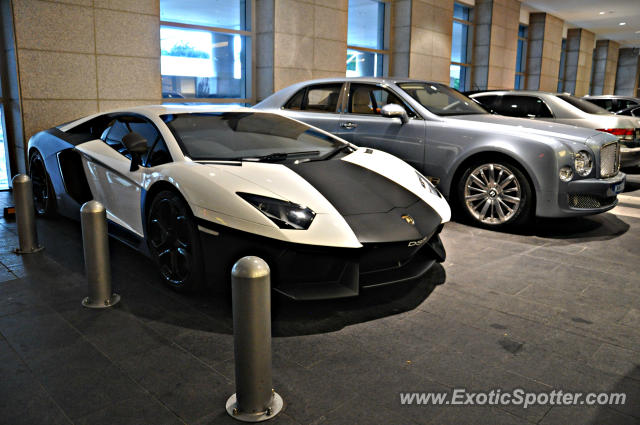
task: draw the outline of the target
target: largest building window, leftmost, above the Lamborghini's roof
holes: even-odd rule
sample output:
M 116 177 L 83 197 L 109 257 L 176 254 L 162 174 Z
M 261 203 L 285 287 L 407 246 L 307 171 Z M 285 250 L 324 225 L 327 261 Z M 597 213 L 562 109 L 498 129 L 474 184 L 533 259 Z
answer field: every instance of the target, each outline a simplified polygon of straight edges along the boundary
M 161 0 L 162 97 L 251 103 L 250 0 Z

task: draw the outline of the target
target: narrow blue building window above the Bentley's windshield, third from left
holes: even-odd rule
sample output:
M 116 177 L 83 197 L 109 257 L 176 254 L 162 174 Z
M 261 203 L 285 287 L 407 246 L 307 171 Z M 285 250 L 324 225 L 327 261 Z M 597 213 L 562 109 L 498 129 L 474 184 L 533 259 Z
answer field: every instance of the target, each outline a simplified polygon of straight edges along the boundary
M 453 5 L 449 85 L 460 91 L 469 90 L 471 83 L 472 12 L 468 6 Z

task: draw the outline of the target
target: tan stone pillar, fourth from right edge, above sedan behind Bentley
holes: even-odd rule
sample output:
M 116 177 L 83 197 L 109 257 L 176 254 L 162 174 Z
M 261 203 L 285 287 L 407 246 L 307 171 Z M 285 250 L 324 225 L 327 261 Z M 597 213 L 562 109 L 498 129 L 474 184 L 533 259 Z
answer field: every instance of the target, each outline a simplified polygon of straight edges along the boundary
M 529 15 L 527 90 L 555 92 L 558 89 L 563 25 L 561 19 L 548 13 Z

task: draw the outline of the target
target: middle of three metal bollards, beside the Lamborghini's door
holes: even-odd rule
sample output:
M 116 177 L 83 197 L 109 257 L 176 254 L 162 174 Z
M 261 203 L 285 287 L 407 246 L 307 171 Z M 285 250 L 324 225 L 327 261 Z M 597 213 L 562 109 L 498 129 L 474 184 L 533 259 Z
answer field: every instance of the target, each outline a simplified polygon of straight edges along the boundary
M 82 305 L 89 308 L 111 307 L 120 301 L 120 295 L 111 292 L 107 211 L 100 202 L 89 201 L 80 208 L 80 217 L 89 284 L 89 296 L 82 300 Z

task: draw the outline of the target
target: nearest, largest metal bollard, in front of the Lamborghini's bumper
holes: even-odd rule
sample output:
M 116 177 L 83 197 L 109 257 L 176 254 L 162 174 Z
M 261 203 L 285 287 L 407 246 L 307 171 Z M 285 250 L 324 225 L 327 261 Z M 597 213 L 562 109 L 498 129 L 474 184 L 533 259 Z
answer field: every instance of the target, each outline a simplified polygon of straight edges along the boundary
M 282 398 L 271 382 L 271 278 L 259 257 L 243 257 L 231 270 L 236 393 L 227 413 L 243 422 L 276 416 Z

